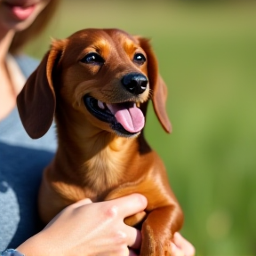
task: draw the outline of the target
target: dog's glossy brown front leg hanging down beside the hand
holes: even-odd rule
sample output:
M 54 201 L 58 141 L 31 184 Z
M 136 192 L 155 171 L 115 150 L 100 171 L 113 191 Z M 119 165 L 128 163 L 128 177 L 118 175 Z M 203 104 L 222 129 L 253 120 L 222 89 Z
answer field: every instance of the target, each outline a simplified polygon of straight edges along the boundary
M 182 221 L 179 206 L 168 205 L 149 212 L 141 229 L 140 256 L 170 256 L 172 236 Z

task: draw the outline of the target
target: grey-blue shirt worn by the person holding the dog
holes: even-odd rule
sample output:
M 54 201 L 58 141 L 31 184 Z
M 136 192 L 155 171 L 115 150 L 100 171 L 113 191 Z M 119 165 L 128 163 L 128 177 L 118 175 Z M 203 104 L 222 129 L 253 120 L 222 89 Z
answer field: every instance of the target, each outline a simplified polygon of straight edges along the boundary
M 38 61 L 16 57 L 28 77 Z M 16 248 L 42 228 L 37 215 L 37 192 L 44 167 L 56 150 L 54 127 L 32 140 L 25 132 L 18 109 L 0 122 L 0 252 Z

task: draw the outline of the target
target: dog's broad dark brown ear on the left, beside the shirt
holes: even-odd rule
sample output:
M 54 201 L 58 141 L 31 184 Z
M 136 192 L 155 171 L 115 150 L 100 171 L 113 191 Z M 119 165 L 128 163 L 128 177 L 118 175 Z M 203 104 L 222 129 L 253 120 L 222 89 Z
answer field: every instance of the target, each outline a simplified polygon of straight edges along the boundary
M 51 50 L 28 77 L 17 98 L 21 122 L 33 139 L 42 137 L 49 130 L 55 112 L 56 96 L 52 76 L 62 52 L 60 44 L 56 46 L 56 42 L 53 42 Z

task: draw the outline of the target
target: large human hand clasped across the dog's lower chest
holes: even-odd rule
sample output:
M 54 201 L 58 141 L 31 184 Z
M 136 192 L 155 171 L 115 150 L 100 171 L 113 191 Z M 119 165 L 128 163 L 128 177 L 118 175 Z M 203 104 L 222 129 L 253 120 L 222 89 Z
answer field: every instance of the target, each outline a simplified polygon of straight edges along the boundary
M 84 199 L 65 208 L 17 250 L 26 256 L 136 256 L 132 249 L 140 249 L 140 231 L 124 224 L 124 218 L 146 206 L 147 199 L 139 194 L 100 203 Z

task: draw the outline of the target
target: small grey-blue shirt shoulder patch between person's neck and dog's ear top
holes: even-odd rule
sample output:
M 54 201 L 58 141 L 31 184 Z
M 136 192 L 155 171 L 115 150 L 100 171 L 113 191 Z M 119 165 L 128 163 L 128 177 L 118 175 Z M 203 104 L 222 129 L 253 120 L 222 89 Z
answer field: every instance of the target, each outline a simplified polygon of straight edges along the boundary
M 30 76 L 39 64 L 39 60 L 25 54 L 15 55 L 13 58 L 19 65 L 20 70 L 25 77 Z

